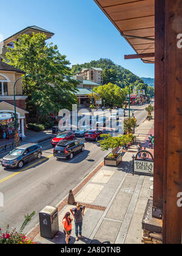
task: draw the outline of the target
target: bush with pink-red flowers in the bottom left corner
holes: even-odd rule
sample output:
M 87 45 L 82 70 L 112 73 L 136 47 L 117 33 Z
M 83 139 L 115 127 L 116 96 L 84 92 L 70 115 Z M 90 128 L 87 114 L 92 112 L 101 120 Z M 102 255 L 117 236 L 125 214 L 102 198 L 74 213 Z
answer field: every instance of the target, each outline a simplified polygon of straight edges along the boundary
M 7 226 L 6 230 L 3 232 L 0 227 L 0 244 L 35 244 L 35 241 L 27 238 L 24 233 L 22 233 L 25 226 L 27 226 L 34 215 L 35 212 L 32 212 L 30 215 L 25 216 L 25 220 L 19 232 L 16 231 L 16 229 L 10 231 L 9 226 Z

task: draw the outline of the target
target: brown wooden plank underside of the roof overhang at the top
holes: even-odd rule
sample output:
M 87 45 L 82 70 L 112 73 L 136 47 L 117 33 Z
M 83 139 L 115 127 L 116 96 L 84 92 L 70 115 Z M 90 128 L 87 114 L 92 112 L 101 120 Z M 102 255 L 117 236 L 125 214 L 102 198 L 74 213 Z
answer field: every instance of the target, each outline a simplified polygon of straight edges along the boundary
M 141 60 L 155 63 L 155 0 L 94 1 L 136 54 L 146 55 L 141 55 Z

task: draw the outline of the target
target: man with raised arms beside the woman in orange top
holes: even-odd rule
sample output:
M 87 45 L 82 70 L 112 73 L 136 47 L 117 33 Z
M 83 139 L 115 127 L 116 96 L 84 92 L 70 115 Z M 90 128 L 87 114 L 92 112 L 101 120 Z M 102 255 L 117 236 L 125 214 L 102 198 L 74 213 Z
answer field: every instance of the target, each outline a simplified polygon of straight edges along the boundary
M 83 227 L 83 216 L 84 216 L 85 209 L 86 209 L 86 207 L 79 203 L 76 204 L 76 208 L 70 209 L 70 212 L 72 213 L 73 218 L 75 219 L 76 241 L 78 241 L 78 233 L 79 233 L 79 238 L 83 239 L 82 227 Z

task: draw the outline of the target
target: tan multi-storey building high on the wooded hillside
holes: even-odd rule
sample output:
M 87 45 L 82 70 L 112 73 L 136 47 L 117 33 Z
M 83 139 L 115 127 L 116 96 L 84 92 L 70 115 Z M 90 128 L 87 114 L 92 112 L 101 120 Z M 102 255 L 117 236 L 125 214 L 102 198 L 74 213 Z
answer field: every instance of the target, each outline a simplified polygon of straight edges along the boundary
M 101 68 L 83 68 L 77 76 L 82 76 L 86 80 L 90 80 L 96 84 L 103 84 L 103 69 Z

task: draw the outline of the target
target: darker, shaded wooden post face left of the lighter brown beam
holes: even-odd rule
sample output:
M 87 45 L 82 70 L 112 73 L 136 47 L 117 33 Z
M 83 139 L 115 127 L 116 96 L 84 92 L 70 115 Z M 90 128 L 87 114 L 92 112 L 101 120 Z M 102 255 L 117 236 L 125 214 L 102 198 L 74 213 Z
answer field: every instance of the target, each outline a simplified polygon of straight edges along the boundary
M 155 40 L 155 150 L 153 173 L 153 207 L 159 208 L 161 209 L 161 212 L 163 212 L 165 0 L 155 0 Z

